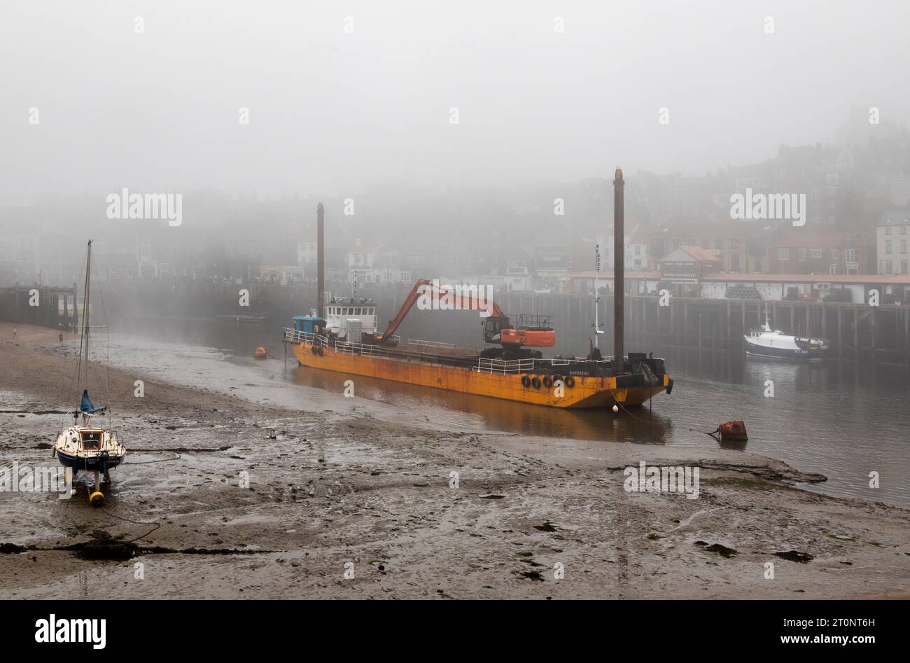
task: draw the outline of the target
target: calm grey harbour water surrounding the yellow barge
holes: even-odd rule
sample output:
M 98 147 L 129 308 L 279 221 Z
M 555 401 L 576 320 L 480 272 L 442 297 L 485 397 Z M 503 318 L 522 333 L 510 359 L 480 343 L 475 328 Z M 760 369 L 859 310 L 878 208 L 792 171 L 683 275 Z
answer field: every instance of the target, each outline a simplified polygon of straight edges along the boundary
M 111 321 L 113 328 L 122 328 Z M 310 411 L 370 413 L 401 423 L 463 431 L 506 431 L 559 438 L 717 448 L 718 423 L 743 419 L 749 441 L 729 448 L 820 472 L 813 489 L 910 507 L 910 406 L 905 369 L 856 362 L 794 363 L 737 353 L 655 352 L 675 385 L 631 413 L 557 411 L 356 377 L 357 399 L 343 396 L 342 373 L 301 369 L 280 342 L 280 326 L 181 321 L 112 334 L 110 361 L 165 380 L 202 385 Z M 104 345 L 102 343 L 102 345 Z M 272 357 L 252 359 L 265 345 Z M 638 348 L 632 347 L 632 350 Z M 104 357 L 107 349 L 99 348 Z M 773 397 L 767 382 L 773 382 Z M 869 473 L 881 487 L 868 487 Z

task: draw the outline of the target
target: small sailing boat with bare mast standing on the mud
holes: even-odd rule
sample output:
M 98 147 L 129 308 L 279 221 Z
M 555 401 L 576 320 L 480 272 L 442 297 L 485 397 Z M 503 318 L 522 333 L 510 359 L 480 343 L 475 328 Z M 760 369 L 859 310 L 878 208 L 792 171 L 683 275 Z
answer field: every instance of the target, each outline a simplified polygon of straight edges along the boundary
M 105 430 L 104 426 L 92 423 L 96 416 L 103 416 L 107 407 L 96 407 L 88 395 L 88 342 L 91 327 L 89 326 L 89 297 L 92 273 L 92 240 L 88 240 L 86 253 L 86 291 L 82 314 L 82 341 L 79 345 L 79 359 L 76 367 L 76 381 L 82 391 L 78 409 L 71 412 L 74 422 L 57 436 L 52 455 L 60 464 L 72 469 L 75 476 L 80 470 L 95 473 L 95 490 L 89 495 L 92 505 L 104 503 L 105 495 L 101 492 L 100 476 L 104 475 L 105 483 L 110 483 L 110 471 L 123 463 L 126 447 L 116 439 L 116 433 Z M 81 419 L 81 422 L 80 422 Z

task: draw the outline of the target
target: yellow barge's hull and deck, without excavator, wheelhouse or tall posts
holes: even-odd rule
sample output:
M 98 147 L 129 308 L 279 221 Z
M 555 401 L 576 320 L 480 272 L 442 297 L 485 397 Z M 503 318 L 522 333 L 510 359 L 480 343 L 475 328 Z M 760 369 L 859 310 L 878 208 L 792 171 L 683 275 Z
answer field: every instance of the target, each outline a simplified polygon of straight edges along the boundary
M 419 384 L 520 403 L 565 408 L 641 405 L 672 391 L 663 360 L 631 352 L 626 374 L 611 376 L 612 360 L 514 359 L 463 356 L 423 345 L 419 351 L 343 342 L 300 329 L 309 316 L 295 318 L 283 341 L 298 362 L 310 368 Z

